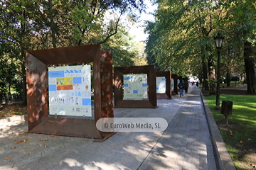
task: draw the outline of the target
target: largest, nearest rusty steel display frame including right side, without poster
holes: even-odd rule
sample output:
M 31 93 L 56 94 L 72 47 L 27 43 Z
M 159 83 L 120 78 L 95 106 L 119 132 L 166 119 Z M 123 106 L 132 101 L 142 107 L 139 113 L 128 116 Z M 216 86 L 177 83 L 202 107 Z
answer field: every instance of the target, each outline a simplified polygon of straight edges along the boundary
M 28 132 L 102 139 L 106 135 L 96 128 L 100 118 L 113 118 L 112 51 L 100 45 L 81 45 L 26 52 Z M 93 62 L 95 119 L 48 116 L 49 64 Z M 64 116 L 65 117 L 65 116 Z

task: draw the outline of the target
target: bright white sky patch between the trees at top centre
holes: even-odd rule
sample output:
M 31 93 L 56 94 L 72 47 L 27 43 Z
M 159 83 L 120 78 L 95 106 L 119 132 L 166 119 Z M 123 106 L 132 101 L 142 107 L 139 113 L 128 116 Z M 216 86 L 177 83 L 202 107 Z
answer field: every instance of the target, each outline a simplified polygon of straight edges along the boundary
M 140 15 L 140 22 L 137 24 L 134 24 L 132 28 L 130 28 L 129 33 L 130 35 L 134 36 L 134 40 L 136 41 L 144 41 L 148 37 L 147 34 L 144 34 L 144 21 L 154 21 L 154 16 L 150 13 L 154 13 L 156 11 L 157 6 L 152 5 L 149 0 L 144 1 L 146 4 L 146 13 L 142 13 Z

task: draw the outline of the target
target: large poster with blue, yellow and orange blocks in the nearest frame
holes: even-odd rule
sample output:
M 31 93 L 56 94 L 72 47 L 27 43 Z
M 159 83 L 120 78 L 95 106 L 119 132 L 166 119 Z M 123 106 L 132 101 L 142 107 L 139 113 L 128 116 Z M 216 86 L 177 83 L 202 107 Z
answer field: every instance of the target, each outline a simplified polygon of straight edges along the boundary
M 92 117 L 90 65 L 49 67 L 50 115 Z

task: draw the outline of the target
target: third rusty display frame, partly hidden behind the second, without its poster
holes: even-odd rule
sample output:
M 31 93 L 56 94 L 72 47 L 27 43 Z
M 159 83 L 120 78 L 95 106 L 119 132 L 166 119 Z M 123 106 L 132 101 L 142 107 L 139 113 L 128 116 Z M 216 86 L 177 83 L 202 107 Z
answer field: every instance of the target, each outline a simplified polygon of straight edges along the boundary
M 156 77 L 165 77 L 166 93 L 156 94 L 157 99 L 171 99 L 171 72 L 156 72 Z

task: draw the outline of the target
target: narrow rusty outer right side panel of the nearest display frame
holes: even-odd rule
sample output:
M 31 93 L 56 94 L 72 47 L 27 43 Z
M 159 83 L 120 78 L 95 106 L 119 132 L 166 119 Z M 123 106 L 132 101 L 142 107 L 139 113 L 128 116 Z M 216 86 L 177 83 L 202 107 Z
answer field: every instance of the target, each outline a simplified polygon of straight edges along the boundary
M 101 118 L 114 118 L 112 50 L 101 50 Z

